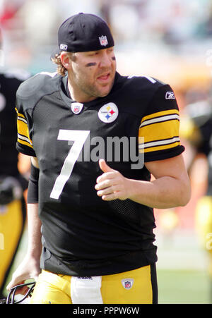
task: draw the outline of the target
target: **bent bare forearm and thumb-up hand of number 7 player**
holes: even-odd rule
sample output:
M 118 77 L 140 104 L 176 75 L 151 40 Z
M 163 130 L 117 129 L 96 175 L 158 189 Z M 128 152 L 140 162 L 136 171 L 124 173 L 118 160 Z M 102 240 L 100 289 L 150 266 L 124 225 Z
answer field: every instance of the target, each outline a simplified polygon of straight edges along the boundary
M 99 164 L 104 173 L 97 178 L 95 190 L 102 200 L 130 199 L 157 209 L 184 206 L 189 202 L 190 182 L 182 157 L 146 164 L 148 171 L 153 171 L 154 181 L 124 178 L 119 171 L 107 166 L 105 160 L 101 159 Z

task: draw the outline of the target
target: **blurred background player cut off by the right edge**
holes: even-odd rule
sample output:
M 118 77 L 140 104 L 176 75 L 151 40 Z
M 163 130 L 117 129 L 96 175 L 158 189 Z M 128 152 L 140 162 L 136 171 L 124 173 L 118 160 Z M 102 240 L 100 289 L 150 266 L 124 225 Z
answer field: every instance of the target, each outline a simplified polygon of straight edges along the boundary
M 212 98 L 211 92 L 207 100 L 188 104 L 185 109 L 185 123 L 182 136 L 192 146 L 194 157 L 204 154 L 208 162 L 206 193 L 196 204 L 196 231 L 201 247 L 208 255 L 208 274 L 211 281 L 212 300 Z M 184 127 L 185 126 L 185 127 Z M 191 166 L 189 169 L 191 169 Z

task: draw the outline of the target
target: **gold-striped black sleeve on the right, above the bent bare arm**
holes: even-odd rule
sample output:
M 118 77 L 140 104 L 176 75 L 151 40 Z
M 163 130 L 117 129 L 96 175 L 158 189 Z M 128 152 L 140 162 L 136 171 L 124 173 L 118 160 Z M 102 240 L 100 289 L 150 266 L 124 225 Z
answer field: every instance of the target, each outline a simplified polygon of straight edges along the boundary
M 168 159 L 181 154 L 179 109 L 170 85 L 163 85 L 153 95 L 139 127 L 139 152 L 144 161 Z

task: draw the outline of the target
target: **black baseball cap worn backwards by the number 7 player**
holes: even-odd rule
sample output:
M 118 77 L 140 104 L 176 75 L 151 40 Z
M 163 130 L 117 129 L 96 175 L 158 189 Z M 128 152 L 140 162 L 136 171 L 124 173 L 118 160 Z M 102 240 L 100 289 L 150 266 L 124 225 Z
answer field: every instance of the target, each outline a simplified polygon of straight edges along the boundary
M 61 24 L 58 30 L 59 51 L 84 52 L 114 46 L 105 20 L 90 13 L 78 13 Z

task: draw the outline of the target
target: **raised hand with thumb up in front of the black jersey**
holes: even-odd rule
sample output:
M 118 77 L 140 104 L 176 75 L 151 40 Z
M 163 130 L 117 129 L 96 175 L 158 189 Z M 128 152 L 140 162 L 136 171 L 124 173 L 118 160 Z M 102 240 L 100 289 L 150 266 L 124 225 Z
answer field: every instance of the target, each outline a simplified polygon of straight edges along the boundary
M 100 159 L 99 165 L 103 174 L 97 178 L 97 195 L 105 201 L 126 200 L 129 197 L 129 179 L 124 178 L 119 171 L 111 169 L 104 159 Z

